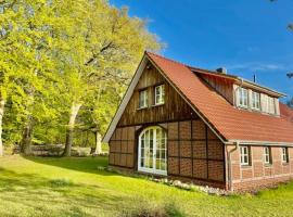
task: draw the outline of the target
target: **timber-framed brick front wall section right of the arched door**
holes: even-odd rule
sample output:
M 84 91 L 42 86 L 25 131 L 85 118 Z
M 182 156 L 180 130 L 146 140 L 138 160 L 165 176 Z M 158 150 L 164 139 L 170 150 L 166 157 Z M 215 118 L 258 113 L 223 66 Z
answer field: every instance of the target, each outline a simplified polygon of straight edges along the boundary
M 167 129 L 168 175 L 225 182 L 224 144 L 202 120 L 168 123 Z

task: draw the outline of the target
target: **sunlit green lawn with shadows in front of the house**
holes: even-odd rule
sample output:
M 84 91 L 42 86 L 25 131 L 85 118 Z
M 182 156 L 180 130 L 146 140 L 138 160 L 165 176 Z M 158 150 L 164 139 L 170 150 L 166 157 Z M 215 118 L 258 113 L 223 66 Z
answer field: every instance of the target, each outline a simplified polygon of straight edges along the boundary
M 214 196 L 99 170 L 106 157 L 0 158 L 0 216 L 292 216 L 293 183 Z

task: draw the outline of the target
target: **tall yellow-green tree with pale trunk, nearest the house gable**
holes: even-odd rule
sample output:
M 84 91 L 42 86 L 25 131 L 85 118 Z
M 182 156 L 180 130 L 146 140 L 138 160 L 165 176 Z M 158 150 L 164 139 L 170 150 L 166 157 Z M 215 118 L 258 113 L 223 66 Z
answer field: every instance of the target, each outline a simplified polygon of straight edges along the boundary
M 73 13 L 79 22 L 72 25 L 69 33 L 74 34 L 68 38 L 76 52 L 61 52 L 71 102 L 65 156 L 71 155 L 79 110 L 99 92 L 100 82 L 110 84 L 104 87 L 126 85 L 143 51 L 161 48 L 156 37 L 146 31 L 145 22 L 129 17 L 126 9 L 112 8 L 104 1 L 75 1 L 75 7 L 79 10 Z

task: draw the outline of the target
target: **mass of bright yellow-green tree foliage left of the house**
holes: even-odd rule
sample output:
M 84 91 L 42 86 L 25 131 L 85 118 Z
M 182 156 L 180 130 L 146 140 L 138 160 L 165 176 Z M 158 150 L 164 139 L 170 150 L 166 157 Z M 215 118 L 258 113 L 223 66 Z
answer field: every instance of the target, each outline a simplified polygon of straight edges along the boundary
M 77 104 L 77 135 L 103 133 L 143 51 L 162 47 L 146 24 L 105 0 L 0 1 L 4 144 L 27 129 L 33 142 L 64 143 Z

